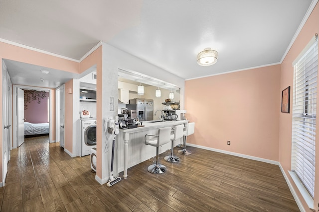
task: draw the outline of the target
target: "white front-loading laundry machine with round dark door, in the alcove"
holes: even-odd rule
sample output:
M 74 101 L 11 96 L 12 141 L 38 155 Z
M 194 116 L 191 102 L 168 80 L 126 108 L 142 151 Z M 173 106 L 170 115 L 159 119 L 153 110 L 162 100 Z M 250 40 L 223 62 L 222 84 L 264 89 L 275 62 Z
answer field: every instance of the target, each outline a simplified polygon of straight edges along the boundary
M 82 119 L 80 156 L 91 154 L 93 147 L 96 147 L 96 119 Z

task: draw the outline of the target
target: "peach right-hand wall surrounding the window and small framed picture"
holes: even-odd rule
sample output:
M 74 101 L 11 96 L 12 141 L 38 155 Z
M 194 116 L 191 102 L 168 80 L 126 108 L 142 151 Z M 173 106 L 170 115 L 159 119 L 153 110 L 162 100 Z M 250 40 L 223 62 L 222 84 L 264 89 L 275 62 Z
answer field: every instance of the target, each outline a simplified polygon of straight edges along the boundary
M 316 33 L 319 33 L 319 4 L 317 3 L 316 7 L 312 11 L 310 17 L 308 18 L 306 24 L 299 33 L 297 39 L 292 45 L 287 56 L 281 64 L 281 85 L 280 89 L 291 86 L 291 93 L 293 90 L 293 79 L 294 79 L 294 68 L 293 61 L 298 57 L 310 40 L 315 36 Z M 317 88 L 317 93 L 319 93 L 319 87 Z M 292 96 L 291 96 L 292 97 Z M 318 101 L 318 98 L 317 98 Z M 293 100 L 290 101 L 291 110 Z M 317 106 L 319 102 L 317 102 Z M 319 114 L 319 107 L 317 107 L 317 114 Z M 291 170 L 291 148 L 292 148 L 292 113 L 284 114 L 280 113 L 279 115 L 279 162 L 282 165 L 286 175 L 289 178 L 290 183 L 293 185 L 299 199 L 302 201 L 302 204 L 305 209 L 308 209 L 308 205 L 304 201 L 300 192 L 298 191 L 294 181 L 291 179 L 288 170 Z M 316 135 L 319 135 L 319 120 L 317 119 L 317 129 Z M 319 138 L 316 136 L 316 152 L 319 152 L 319 145 L 317 145 Z M 316 161 L 319 161 L 319 154 L 316 153 Z M 315 178 L 315 198 L 314 198 L 314 208 L 317 209 L 319 203 L 319 162 L 316 162 L 316 178 Z M 307 210 L 306 210 L 307 211 Z

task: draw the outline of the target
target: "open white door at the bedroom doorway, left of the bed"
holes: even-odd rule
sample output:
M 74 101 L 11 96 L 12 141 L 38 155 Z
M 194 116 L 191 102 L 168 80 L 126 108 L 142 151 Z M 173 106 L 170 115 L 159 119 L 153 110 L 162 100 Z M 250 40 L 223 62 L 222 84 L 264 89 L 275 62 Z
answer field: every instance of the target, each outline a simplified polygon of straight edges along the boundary
M 24 91 L 17 89 L 17 146 L 24 143 Z

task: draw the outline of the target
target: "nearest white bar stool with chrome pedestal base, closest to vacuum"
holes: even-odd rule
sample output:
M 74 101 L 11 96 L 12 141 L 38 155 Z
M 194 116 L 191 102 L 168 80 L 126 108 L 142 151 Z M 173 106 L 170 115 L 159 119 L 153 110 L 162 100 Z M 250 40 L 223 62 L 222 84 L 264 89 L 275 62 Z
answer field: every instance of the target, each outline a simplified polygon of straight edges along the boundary
M 166 166 L 159 163 L 159 147 L 170 141 L 170 130 L 171 127 L 164 127 L 159 129 L 158 135 L 145 135 L 145 144 L 156 146 L 156 164 L 148 167 L 148 171 L 153 174 L 162 174 L 167 170 Z M 149 137 L 152 137 L 152 139 L 147 139 Z

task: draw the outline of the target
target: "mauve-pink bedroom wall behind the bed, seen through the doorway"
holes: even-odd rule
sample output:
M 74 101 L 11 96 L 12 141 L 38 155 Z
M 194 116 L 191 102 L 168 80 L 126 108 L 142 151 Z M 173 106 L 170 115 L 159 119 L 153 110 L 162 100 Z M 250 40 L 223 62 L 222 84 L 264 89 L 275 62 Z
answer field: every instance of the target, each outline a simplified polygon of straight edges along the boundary
M 24 93 L 28 92 L 24 90 Z M 30 123 L 47 123 L 48 122 L 48 98 L 49 92 L 45 92 L 45 97 L 41 99 L 40 103 L 38 100 L 31 100 L 27 102 L 27 109 L 24 110 L 24 119 Z

